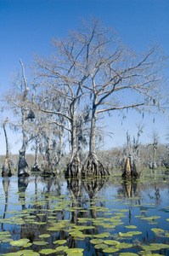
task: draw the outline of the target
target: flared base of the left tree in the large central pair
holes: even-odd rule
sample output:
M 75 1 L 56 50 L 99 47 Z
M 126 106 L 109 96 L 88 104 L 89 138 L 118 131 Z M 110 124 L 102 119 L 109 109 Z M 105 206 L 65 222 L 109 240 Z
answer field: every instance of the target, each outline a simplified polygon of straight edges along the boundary
M 80 177 L 81 176 L 81 161 L 78 155 L 75 155 L 67 165 L 65 177 Z

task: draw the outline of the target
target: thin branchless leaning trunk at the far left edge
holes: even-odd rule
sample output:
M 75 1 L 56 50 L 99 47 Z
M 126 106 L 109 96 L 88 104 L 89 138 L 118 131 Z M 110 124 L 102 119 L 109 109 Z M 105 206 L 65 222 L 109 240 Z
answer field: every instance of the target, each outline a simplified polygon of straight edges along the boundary
M 11 168 L 9 165 L 8 137 L 7 137 L 7 131 L 5 129 L 5 124 L 7 122 L 8 122 L 8 118 L 3 123 L 3 131 L 4 131 L 4 135 L 5 135 L 5 141 L 6 141 L 6 156 L 5 156 L 5 160 L 3 162 L 3 172 L 2 172 L 3 177 L 10 177 L 12 175 Z

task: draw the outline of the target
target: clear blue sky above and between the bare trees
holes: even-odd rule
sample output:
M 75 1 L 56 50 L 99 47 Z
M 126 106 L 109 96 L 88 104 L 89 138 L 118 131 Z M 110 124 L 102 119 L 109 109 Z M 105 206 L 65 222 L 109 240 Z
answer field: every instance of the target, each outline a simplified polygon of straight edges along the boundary
M 142 50 L 150 41 L 162 45 L 169 55 L 169 1 L 168 0 L 0 0 L 0 96 L 10 87 L 10 76 L 23 63 L 30 64 L 33 54 L 49 55 L 51 38 L 65 37 L 74 29 L 79 18 L 101 17 L 106 26 L 112 26 L 123 42 L 132 49 Z M 6 118 L 5 113 L 4 118 Z M 142 143 L 150 142 L 149 134 L 156 130 L 161 143 L 166 143 L 169 127 L 166 117 L 145 115 L 142 120 Z M 141 116 L 129 112 L 121 125 L 115 114 L 108 121 L 104 148 L 121 146 L 126 142 L 126 131 L 137 135 L 136 123 Z M 5 154 L 3 130 L 0 130 L 0 154 Z M 8 131 L 11 152 L 18 153 L 20 136 Z M 16 144 L 15 142 L 18 141 Z

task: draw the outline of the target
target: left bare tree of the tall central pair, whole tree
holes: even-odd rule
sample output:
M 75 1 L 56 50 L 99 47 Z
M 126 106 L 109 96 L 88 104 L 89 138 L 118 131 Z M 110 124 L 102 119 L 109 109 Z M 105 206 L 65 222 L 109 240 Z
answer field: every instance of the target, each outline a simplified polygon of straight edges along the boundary
M 74 37 L 74 33 L 69 34 L 65 40 L 54 39 L 54 54 L 50 58 L 37 57 L 36 63 L 39 71 L 41 85 L 48 87 L 53 99 L 57 97 L 61 101 L 61 108 L 42 108 L 41 111 L 53 113 L 59 119 L 51 123 L 62 127 L 65 131 L 70 132 L 70 149 L 71 156 L 67 165 L 66 176 L 81 175 L 81 161 L 78 156 L 78 142 L 76 141 L 76 118 L 77 105 L 80 112 L 85 104 L 80 107 L 83 96 L 82 86 L 87 79 L 88 73 L 82 61 L 83 45 L 81 36 Z M 82 66 L 82 67 L 81 67 Z M 60 122 L 60 118 L 62 120 Z M 63 121 L 65 120 L 65 123 Z

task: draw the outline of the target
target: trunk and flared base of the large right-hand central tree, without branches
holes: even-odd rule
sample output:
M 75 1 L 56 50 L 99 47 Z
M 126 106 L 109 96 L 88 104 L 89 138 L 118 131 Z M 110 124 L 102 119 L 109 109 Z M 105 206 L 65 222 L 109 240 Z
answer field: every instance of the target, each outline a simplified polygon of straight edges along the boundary
M 90 143 L 89 143 L 89 154 L 87 160 L 82 167 L 82 176 L 107 176 L 110 172 L 106 170 L 99 161 L 96 154 L 96 107 L 93 104 L 91 130 L 90 130 Z

